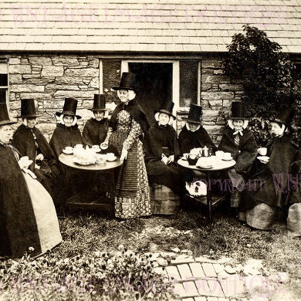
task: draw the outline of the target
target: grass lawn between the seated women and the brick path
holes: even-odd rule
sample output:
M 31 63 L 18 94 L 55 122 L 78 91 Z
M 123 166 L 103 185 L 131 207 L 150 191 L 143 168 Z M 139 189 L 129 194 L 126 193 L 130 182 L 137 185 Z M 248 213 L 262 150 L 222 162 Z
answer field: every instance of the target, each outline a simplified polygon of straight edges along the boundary
M 24 287 L 18 286 L 17 289 L 15 285 L 14 290 L 14 285 L 8 284 L 11 273 L 25 278 L 36 276 L 37 271 L 39 275 L 56 271 L 59 274 L 64 269 L 67 274 L 78 275 L 82 269 L 84 274 L 86 267 L 84 265 L 79 267 L 78 262 L 85 260 L 91 272 L 94 268 L 93 261 L 100 253 L 114 253 L 122 244 L 138 254 L 170 251 L 171 248 L 179 247 L 191 250 L 194 256 L 206 254 L 212 258 L 219 258 L 222 255 L 232 257 L 237 264 L 244 263 L 249 258 L 263 259 L 268 269 L 289 274 L 290 280 L 285 289 L 294 300 L 298 299 L 297 297 L 301 295 L 301 240 L 288 238 L 285 225 L 282 223 L 276 224 L 269 232 L 256 231 L 229 217 L 223 211 L 226 210 L 220 208 L 215 212 L 212 224 L 206 223 L 199 208 L 181 210 L 170 217 L 152 216 L 122 221 L 95 212 L 70 212 L 60 221 L 64 242 L 49 254 L 35 260 L 34 266 L 26 258 L 18 264 L 12 264 L 10 260 L 3 263 L 4 269 L 0 269 L 0 279 L 1 277 L 3 279 L 1 292 L 3 297 L 9 296 L 8 299 L 13 298 L 16 290 L 19 297 L 16 299 L 22 296 L 20 289 L 24 290 Z M 35 266 L 36 264 L 38 266 Z M 70 265 L 74 268 L 70 268 Z M 51 279 L 59 282 L 58 276 Z M 52 285 L 52 290 L 43 289 L 45 300 L 50 297 L 47 294 L 51 294 L 54 284 L 47 283 L 48 286 Z M 33 296 L 33 299 L 43 299 L 37 297 L 38 292 L 41 295 L 41 285 L 40 282 L 36 287 L 32 283 L 28 285 L 26 288 L 31 287 L 32 293 L 27 295 Z M 64 293 L 66 299 L 85 300 L 97 297 L 97 294 L 93 296 L 93 292 L 87 290 L 79 293 L 78 290 L 69 289 L 68 293 L 66 291 L 60 293 Z M 276 300 L 279 297 L 280 295 L 273 296 L 272 299 Z M 280 299 L 288 300 L 285 297 Z

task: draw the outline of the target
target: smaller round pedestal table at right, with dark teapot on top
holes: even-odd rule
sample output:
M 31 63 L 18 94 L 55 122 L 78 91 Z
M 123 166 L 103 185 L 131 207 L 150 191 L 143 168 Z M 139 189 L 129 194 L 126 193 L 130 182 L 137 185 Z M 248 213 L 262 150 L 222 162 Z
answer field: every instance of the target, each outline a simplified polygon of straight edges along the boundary
M 215 197 L 214 203 L 212 201 L 212 193 L 211 193 L 211 173 L 212 172 L 218 172 L 222 170 L 227 170 L 229 168 L 232 168 L 235 166 L 236 162 L 232 159 L 229 161 L 225 161 L 222 159 L 219 159 L 215 156 L 212 156 L 210 161 L 210 164 L 212 165 L 211 168 L 201 168 L 197 165 L 189 165 L 188 161 L 186 159 L 180 159 L 178 160 L 178 164 L 181 165 L 182 167 L 190 170 L 195 170 L 195 171 L 201 171 L 206 175 L 206 181 L 207 181 L 207 197 L 204 202 L 204 197 L 194 197 L 191 195 L 187 195 L 189 198 L 192 198 L 198 202 L 200 202 L 203 205 L 207 206 L 208 210 L 208 219 L 211 221 L 212 219 L 212 208 L 213 206 L 217 206 L 219 203 L 225 200 L 225 195 L 222 196 L 217 196 Z M 209 185 L 208 185 L 209 184 Z

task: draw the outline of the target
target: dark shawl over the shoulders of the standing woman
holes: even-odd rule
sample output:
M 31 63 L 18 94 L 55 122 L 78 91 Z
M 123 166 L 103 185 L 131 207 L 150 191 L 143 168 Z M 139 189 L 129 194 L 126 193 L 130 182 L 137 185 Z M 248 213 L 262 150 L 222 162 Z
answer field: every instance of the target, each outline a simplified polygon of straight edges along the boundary
M 130 113 L 130 115 L 134 118 L 134 120 L 139 123 L 145 135 L 145 133 L 149 128 L 149 122 L 147 120 L 144 111 L 142 110 L 142 108 L 140 107 L 140 105 L 137 103 L 135 99 L 130 100 L 127 105 L 124 103 L 119 103 L 116 106 L 114 112 L 112 113 L 109 126 L 112 127 L 113 130 L 116 130 L 116 117 L 121 110 L 126 110 L 127 112 Z

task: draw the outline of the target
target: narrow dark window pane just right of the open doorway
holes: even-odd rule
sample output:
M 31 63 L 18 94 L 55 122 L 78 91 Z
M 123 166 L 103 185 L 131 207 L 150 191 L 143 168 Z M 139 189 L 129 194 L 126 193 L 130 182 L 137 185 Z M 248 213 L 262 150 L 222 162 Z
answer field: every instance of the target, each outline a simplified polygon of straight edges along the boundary
M 198 102 L 198 61 L 180 61 L 180 106 Z

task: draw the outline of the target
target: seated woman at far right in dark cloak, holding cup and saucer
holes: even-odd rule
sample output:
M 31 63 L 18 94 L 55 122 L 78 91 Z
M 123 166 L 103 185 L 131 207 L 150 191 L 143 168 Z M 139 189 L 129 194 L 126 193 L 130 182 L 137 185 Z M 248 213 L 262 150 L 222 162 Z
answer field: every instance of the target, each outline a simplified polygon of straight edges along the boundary
M 271 122 L 272 138 L 267 143 L 267 157 L 258 157 L 252 166 L 251 179 L 257 179 L 257 189 L 245 191 L 239 217 L 256 229 L 267 230 L 273 223 L 276 209 L 284 209 L 289 167 L 294 160 L 297 146 L 286 129 L 290 109 L 282 111 Z

